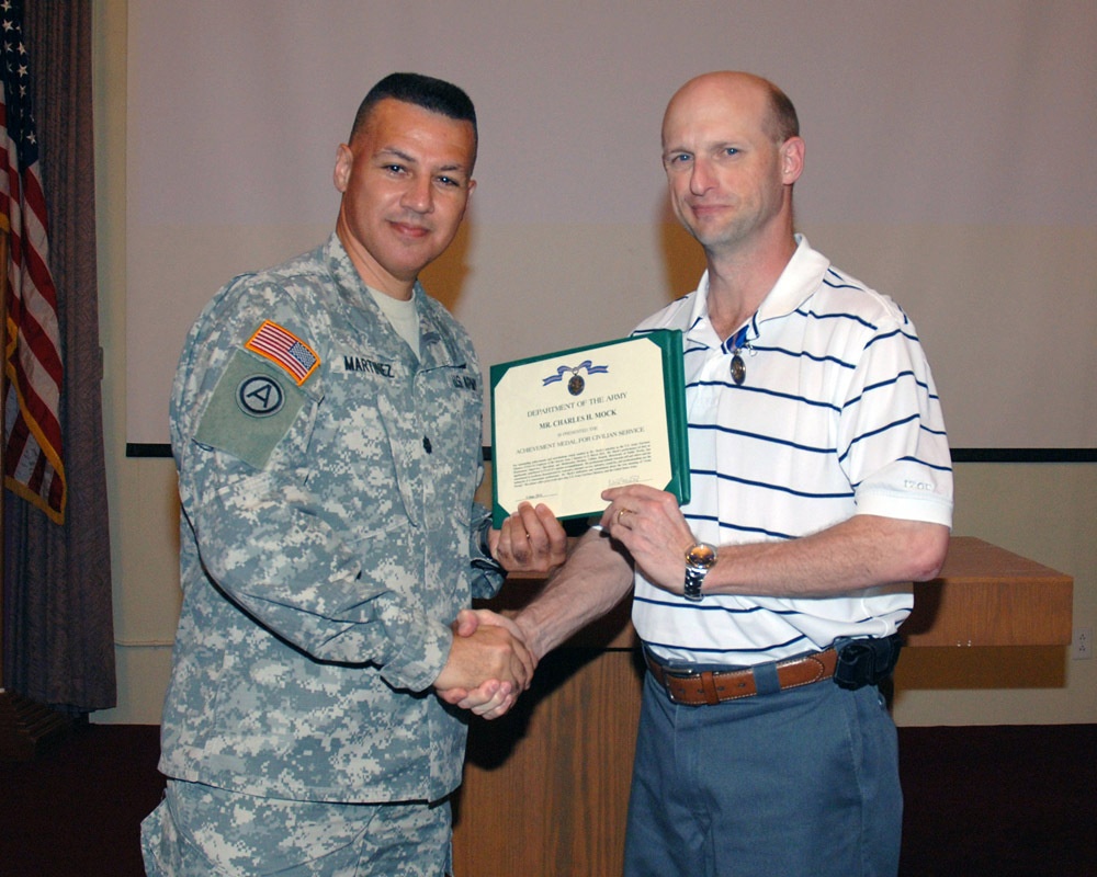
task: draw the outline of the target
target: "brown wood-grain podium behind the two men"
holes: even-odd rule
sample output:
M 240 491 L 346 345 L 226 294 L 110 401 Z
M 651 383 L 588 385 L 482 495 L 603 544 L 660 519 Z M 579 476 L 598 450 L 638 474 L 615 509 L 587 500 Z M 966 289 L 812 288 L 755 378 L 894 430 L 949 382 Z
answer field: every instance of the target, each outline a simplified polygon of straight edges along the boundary
M 939 578 L 914 585 L 908 647 L 1065 646 L 1073 579 L 1004 548 L 953 537 Z M 513 610 L 538 580 L 480 605 Z M 547 656 L 496 721 L 474 719 L 454 806 L 459 875 L 622 870 L 641 665 L 626 600 Z

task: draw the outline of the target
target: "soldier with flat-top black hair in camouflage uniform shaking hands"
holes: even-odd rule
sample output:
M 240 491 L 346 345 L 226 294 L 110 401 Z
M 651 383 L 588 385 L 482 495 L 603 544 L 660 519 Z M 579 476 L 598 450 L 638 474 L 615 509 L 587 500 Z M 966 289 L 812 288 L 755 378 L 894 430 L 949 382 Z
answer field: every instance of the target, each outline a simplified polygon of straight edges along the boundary
M 339 147 L 336 232 L 234 280 L 186 339 L 149 874 L 449 869 L 466 726 L 434 688 L 498 679 L 517 696 L 533 669 L 505 626 L 451 623 L 495 593 L 498 561 L 563 551 L 561 531 L 530 550 L 519 521 L 490 531 L 474 503 L 479 366 L 417 281 L 456 232 L 475 149 L 464 92 L 382 80 Z

